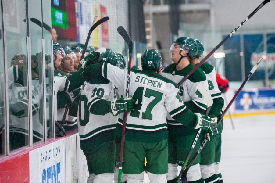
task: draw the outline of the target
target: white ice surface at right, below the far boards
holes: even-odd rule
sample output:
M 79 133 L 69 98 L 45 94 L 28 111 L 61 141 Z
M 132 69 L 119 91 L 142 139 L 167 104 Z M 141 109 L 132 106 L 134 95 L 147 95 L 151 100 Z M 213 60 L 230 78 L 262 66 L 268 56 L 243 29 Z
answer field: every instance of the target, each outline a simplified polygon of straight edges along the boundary
M 275 115 L 224 119 L 220 171 L 224 183 L 275 183 Z M 180 167 L 178 167 L 180 170 Z M 144 183 L 149 183 L 147 174 Z

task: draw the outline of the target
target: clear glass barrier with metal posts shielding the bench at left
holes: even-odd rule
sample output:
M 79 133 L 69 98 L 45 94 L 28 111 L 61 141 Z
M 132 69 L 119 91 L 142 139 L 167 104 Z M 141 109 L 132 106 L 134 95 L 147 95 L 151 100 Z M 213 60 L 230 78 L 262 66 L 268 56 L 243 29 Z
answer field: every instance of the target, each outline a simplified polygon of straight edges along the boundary
M 9 155 L 15 149 L 47 141 L 47 130 L 53 123 L 50 4 L 50 0 L 2 1 L 5 16 L 0 26 L 0 154 Z M 48 27 L 42 29 L 41 22 Z

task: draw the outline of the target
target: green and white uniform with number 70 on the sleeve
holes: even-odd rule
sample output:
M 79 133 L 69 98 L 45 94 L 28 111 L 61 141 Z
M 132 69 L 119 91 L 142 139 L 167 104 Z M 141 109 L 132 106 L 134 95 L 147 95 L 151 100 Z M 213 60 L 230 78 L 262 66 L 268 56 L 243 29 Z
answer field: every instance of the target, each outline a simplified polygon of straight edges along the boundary
M 114 131 L 118 116 L 109 112 L 108 101 L 115 98 L 115 86 L 109 80 L 92 78 L 84 82 L 77 124 L 80 148 L 86 156 L 89 174 L 114 173 Z

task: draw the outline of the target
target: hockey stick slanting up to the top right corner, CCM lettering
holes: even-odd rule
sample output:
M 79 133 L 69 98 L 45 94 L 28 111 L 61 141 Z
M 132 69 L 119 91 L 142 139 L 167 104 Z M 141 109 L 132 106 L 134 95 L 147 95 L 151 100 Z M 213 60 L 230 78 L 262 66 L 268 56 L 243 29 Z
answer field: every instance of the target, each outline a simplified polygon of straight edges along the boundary
M 274 0 L 271 0 L 274 1 Z M 237 30 L 239 30 L 241 28 L 241 26 L 243 26 L 257 11 L 259 11 L 259 9 L 261 9 L 266 3 L 270 2 L 270 0 L 264 0 L 262 2 L 262 4 L 260 4 L 252 13 L 250 13 L 250 15 L 248 15 L 248 17 L 245 18 L 245 20 L 243 20 L 234 30 L 232 30 L 230 32 L 230 34 L 227 35 L 226 38 L 224 38 L 211 52 L 208 53 L 207 56 L 205 56 L 192 70 L 190 70 L 190 72 L 178 83 L 178 85 L 182 84 L 184 81 L 187 80 L 187 78 L 196 70 L 198 69 L 199 66 L 201 66 L 218 48 L 220 48 L 221 45 L 223 45 L 223 43 L 225 41 L 227 41 L 227 39 L 229 39 L 235 32 L 237 32 Z

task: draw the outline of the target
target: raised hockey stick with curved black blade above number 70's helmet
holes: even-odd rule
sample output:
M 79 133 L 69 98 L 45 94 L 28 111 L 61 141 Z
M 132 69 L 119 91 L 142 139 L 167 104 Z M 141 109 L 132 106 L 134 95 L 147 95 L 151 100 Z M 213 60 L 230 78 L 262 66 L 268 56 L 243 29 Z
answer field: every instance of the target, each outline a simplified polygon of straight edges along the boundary
M 86 38 L 86 42 L 85 42 L 85 45 L 84 45 L 84 48 L 83 48 L 83 52 L 82 52 L 82 55 L 80 57 L 80 60 L 84 59 L 84 55 L 85 55 L 85 52 L 86 52 L 86 48 L 87 48 L 87 45 L 88 45 L 88 42 L 90 40 L 90 36 L 93 32 L 93 30 L 95 30 L 96 27 L 98 27 L 100 24 L 102 24 L 103 22 L 109 20 L 109 17 L 108 16 L 105 16 L 103 17 L 102 19 L 98 20 L 97 22 L 95 22 L 97 19 L 97 16 L 95 15 L 94 17 L 94 21 L 93 21 L 93 25 L 92 27 L 90 28 L 89 32 L 88 32 L 88 36 Z M 78 70 L 78 69 L 77 69 Z M 65 123 L 65 119 L 66 119 L 66 116 L 67 116 L 67 113 L 68 113 L 68 110 L 69 110 L 69 107 L 70 107 L 70 103 L 67 103 L 67 106 L 65 108 L 65 112 L 63 114 L 63 117 L 62 117 L 62 121 L 61 121 L 61 125 L 63 127 L 63 124 Z

